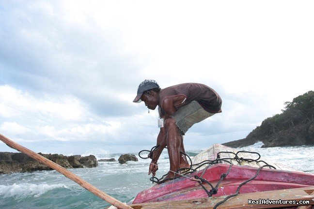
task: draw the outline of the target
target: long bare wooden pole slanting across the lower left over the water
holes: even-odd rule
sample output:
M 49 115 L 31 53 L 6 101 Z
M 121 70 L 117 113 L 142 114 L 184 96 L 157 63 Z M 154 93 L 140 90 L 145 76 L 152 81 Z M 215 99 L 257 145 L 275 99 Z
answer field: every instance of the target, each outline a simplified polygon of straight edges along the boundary
M 80 186 L 85 188 L 86 190 L 90 191 L 91 193 L 95 194 L 96 196 L 100 197 L 101 199 L 105 200 L 106 202 L 110 203 L 114 207 L 118 209 L 132 209 L 130 206 L 120 202 L 119 200 L 111 197 L 110 195 L 104 193 L 103 191 L 97 189 L 92 184 L 88 183 L 87 181 L 79 178 L 75 174 L 71 173 L 64 167 L 60 166 L 59 164 L 56 164 L 47 158 L 41 156 L 40 154 L 37 154 L 36 152 L 31 151 L 30 149 L 27 149 L 16 142 L 12 141 L 11 139 L 5 137 L 4 135 L 0 134 L 0 140 L 3 141 L 6 145 L 8 145 L 10 148 L 16 149 L 20 152 L 23 152 L 24 154 L 30 156 L 31 158 L 40 161 L 41 163 L 51 167 L 52 169 L 58 171 L 59 173 L 63 174 L 66 178 L 74 180 L 77 182 Z

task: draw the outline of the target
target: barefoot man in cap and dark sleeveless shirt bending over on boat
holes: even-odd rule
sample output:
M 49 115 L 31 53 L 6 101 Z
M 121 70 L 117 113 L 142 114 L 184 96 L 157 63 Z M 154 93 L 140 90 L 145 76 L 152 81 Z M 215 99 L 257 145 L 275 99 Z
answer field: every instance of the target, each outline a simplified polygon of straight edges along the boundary
M 195 123 L 221 112 L 221 98 L 218 93 L 204 84 L 184 83 L 160 89 L 155 80 L 144 80 L 138 87 L 135 103 L 143 101 L 148 109 L 158 105 L 160 132 L 157 136 L 157 149 L 149 157 L 152 162 L 148 175 L 156 175 L 157 161 L 167 146 L 170 171 L 165 179 L 178 177 L 176 171 L 189 167 L 185 152 L 183 135 Z

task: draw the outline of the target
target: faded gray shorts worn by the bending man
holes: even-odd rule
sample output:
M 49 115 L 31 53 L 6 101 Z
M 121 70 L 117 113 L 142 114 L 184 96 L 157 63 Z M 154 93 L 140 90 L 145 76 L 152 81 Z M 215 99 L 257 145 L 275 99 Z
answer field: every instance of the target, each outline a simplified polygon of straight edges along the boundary
M 180 109 L 178 109 L 172 118 L 176 120 L 176 125 L 180 130 L 181 135 L 185 135 L 189 128 L 193 124 L 201 122 L 202 120 L 215 115 L 215 113 L 209 113 L 196 101 L 192 101 Z

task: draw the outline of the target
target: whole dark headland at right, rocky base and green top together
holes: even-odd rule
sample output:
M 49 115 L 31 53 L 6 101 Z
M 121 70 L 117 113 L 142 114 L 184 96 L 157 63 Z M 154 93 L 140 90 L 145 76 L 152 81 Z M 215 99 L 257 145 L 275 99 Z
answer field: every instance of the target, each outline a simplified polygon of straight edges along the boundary
M 281 114 L 263 120 L 246 138 L 223 145 L 241 148 L 260 141 L 262 147 L 314 145 L 314 91 L 284 104 Z

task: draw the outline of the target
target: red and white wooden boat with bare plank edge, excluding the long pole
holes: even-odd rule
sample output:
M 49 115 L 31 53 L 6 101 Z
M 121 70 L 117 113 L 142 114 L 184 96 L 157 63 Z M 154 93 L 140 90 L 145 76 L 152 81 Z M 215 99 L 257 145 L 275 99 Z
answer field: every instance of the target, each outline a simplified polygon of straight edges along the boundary
M 314 174 L 296 171 L 292 167 L 283 164 L 266 162 L 273 167 L 263 167 L 265 163 L 258 161 L 247 162 L 245 159 L 256 159 L 256 156 L 247 152 L 214 144 L 209 149 L 204 150 L 192 158 L 193 164 L 198 164 L 204 160 L 215 160 L 219 153 L 220 159 L 230 158 L 233 163 L 221 161 L 218 164 L 203 165 L 198 171 L 180 177 L 140 192 L 130 205 L 132 208 L 213 208 L 224 200 L 228 195 L 236 194 L 225 203 L 220 204 L 219 208 L 273 208 L 273 207 L 293 207 L 298 204 L 286 205 L 249 205 L 248 199 L 259 200 L 309 200 L 309 204 L 314 205 Z M 263 167 L 262 169 L 260 167 Z M 276 168 L 276 169 L 274 169 Z M 229 172 L 228 172 L 229 171 Z M 259 171 L 259 172 L 258 172 Z M 221 180 L 221 175 L 227 176 Z M 203 176 L 202 176 L 203 175 Z M 241 185 L 248 179 L 256 175 L 255 179 Z M 191 180 L 193 177 L 203 177 L 213 187 L 217 186 L 217 194 L 208 197 L 207 191 L 213 188 L 206 182 L 199 183 Z M 221 180 L 221 182 L 220 182 Z M 204 186 L 204 188 L 201 186 Z M 241 187 L 239 188 L 239 186 Z M 271 191 L 271 192 L 270 192 Z M 215 192 L 215 191 L 214 191 Z M 235 203 L 235 201 L 237 201 Z M 264 201 L 265 202 L 265 201 Z

